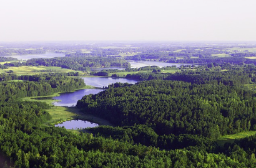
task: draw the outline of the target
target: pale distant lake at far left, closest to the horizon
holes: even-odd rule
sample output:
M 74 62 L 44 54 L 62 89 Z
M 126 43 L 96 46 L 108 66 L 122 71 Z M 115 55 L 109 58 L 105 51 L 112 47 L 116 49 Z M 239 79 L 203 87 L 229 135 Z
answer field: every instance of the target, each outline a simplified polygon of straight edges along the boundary
M 63 53 L 46 52 L 46 54 L 29 54 L 29 55 L 11 55 L 4 57 L 17 58 L 18 60 L 29 60 L 32 58 L 54 58 L 54 57 L 65 57 Z

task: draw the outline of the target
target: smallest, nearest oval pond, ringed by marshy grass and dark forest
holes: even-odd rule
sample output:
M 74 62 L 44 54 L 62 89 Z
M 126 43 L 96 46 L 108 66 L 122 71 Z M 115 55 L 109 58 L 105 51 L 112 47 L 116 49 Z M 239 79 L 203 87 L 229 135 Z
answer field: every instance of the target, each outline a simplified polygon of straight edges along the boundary
M 93 128 L 93 127 L 99 126 L 99 124 L 92 123 L 90 121 L 74 119 L 74 120 L 70 120 L 70 121 L 65 121 L 60 124 L 56 124 L 55 126 L 57 126 L 57 127 L 64 126 L 64 128 L 66 128 L 66 129 L 84 129 L 84 128 Z

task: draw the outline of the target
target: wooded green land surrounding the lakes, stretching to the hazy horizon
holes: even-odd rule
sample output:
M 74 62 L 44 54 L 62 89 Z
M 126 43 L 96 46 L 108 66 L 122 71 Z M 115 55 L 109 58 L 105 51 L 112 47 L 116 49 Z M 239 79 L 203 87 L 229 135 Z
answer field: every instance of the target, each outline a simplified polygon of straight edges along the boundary
M 256 131 L 256 67 L 255 59 L 247 58 L 254 57 L 254 45 L 240 47 L 242 52 L 234 44 L 1 46 L 9 52 L 40 49 L 66 57 L 0 58 L 6 70 L 0 73 L 0 167 L 256 167 L 256 135 L 219 143 L 222 136 Z M 133 68 L 127 62 L 144 59 L 205 64 Z M 42 69 L 19 75 L 9 68 L 42 66 L 76 72 Z M 125 69 L 92 72 L 95 67 Z M 84 71 L 88 77 L 125 74 L 138 80 L 112 83 L 73 107 L 112 126 L 50 126 L 46 123 L 54 116 L 47 110 L 53 105 L 23 99 L 84 88 L 79 78 Z

